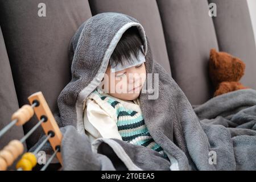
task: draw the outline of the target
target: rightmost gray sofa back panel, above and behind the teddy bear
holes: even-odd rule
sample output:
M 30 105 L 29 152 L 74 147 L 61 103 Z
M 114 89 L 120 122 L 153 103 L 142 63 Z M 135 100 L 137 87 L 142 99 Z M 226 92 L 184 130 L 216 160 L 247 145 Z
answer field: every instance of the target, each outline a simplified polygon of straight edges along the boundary
M 209 2 L 217 5 L 217 16 L 213 17 L 213 23 L 218 48 L 245 62 L 245 75 L 241 82 L 256 89 L 256 48 L 247 1 L 209 0 Z

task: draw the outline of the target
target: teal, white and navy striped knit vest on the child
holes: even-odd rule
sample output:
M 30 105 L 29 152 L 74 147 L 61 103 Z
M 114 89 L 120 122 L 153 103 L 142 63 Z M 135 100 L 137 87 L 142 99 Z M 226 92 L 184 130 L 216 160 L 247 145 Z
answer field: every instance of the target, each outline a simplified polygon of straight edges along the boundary
M 90 98 L 95 100 L 101 107 L 109 105 L 114 109 L 113 111 L 115 111 L 117 117 L 118 133 L 123 141 L 151 148 L 167 157 L 162 147 L 151 137 L 144 123 L 141 109 L 138 109 L 139 107 L 137 109 L 127 109 L 120 100 L 105 93 L 100 94 L 97 90 L 90 94 Z

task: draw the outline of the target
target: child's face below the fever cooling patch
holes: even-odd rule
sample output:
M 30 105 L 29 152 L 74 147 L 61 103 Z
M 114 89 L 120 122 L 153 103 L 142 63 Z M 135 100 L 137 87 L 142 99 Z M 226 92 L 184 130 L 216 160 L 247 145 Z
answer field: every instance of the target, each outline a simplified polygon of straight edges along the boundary
M 110 96 L 130 101 L 139 97 L 145 80 L 144 63 L 113 73 L 109 64 L 102 81 L 102 90 Z

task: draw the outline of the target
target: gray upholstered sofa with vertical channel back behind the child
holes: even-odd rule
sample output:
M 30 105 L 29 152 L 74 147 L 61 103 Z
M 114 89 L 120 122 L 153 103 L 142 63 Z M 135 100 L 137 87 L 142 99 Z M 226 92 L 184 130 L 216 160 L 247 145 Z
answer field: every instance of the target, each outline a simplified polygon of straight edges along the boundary
M 10 122 L 30 94 L 42 91 L 53 113 L 57 97 L 71 79 L 68 44 L 82 22 L 103 12 L 119 12 L 142 23 L 154 59 L 174 78 L 192 105 L 213 94 L 208 77 L 210 48 L 246 63 L 242 84 L 256 89 L 256 48 L 246 1 L 241 0 L 44 0 L 46 17 L 38 16 L 39 0 L 0 0 L 0 129 Z M 217 17 L 208 5 L 217 5 Z M 26 134 L 37 119 L 13 127 L 0 148 Z M 38 129 L 27 148 L 38 140 Z

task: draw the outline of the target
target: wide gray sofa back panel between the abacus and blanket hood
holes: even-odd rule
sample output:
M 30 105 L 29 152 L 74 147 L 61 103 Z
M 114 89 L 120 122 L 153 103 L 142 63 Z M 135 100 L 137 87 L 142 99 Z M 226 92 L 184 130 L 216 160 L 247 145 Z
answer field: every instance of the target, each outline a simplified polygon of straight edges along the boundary
M 57 97 L 71 79 L 68 45 L 82 22 L 91 16 L 84 0 L 45 0 L 46 16 L 39 16 L 39 0 L 0 0 L 0 24 L 13 72 L 19 106 L 27 97 L 42 91 L 52 112 Z M 16 102 L 14 102 L 15 104 Z M 27 133 L 36 117 L 24 125 Z M 42 128 L 27 140 L 30 148 L 42 134 Z

